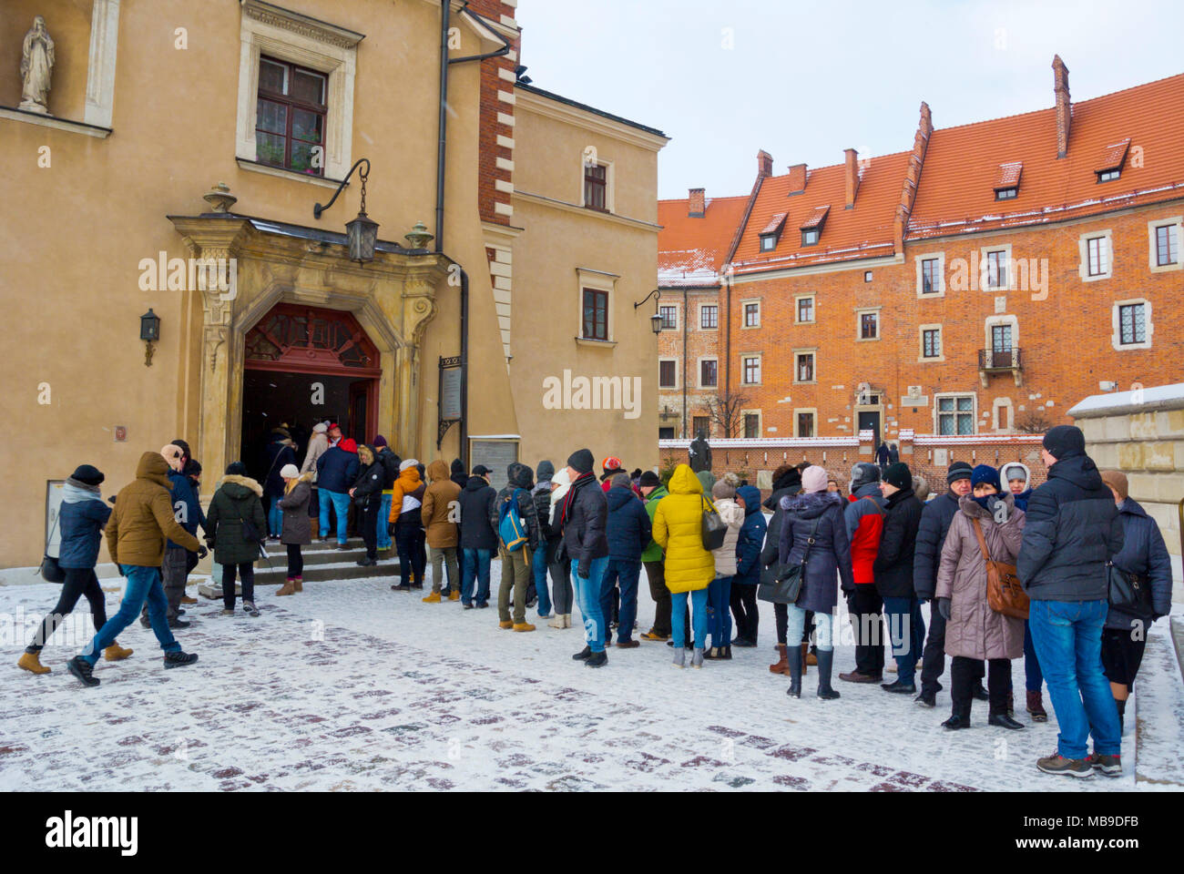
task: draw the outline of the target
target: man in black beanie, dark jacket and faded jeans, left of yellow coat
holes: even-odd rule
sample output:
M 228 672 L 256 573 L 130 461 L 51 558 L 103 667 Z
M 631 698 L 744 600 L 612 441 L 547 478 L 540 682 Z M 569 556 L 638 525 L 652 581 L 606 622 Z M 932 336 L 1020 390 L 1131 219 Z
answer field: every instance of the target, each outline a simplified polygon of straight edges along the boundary
M 572 586 L 584 615 L 584 640 L 587 645 L 573 658 L 590 668 L 599 668 L 609 657 L 604 653 L 605 617 L 600 612 L 600 583 L 609 566 L 606 523 L 609 502 L 592 473 L 592 452 L 580 449 L 567 460 L 572 487 L 555 512 L 564 534 L 564 548 L 572 563 Z

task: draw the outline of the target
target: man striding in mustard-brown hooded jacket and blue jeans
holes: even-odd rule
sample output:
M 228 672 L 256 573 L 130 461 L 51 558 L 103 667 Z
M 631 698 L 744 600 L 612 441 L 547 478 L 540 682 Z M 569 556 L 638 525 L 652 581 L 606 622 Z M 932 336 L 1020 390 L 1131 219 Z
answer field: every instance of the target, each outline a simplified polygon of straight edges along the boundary
M 107 522 L 104 534 L 111 561 L 128 578 L 128 587 L 123 592 L 120 611 L 103 623 L 79 655 L 66 663 L 70 673 L 85 686 L 98 686 L 99 680 L 92 671 L 99 653 L 135 622 L 146 599 L 152 630 L 165 650 L 165 667 L 176 668 L 198 661 L 197 655 L 181 651 L 181 644 L 168 629 L 168 598 L 160 579 L 166 539 L 199 557 L 206 554 L 206 548 L 198 539 L 174 519 L 169 494 L 172 488 L 165 456 L 160 452 L 144 452 L 136 467 L 136 478 L 115 497 L 115 510 Z

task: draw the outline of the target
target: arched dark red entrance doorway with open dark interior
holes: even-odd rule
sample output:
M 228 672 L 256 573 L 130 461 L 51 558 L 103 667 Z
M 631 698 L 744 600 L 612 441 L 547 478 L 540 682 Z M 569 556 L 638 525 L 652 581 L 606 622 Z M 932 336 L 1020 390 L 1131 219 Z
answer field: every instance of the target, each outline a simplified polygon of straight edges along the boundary
M 266 445 L 287 426 L 304 450 L 326 419 L 346 437 L 369 443 L 378 431 L 379 352 L 350 313 L 281 303 L 246 334 L 240 458 L 260 484 Z

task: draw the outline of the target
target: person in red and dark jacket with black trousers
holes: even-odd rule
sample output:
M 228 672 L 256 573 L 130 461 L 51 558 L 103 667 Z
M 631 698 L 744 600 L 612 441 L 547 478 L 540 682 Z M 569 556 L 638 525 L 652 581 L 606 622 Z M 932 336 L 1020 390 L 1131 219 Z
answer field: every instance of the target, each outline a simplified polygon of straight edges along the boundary
M 883 679 L 883 599 L 876 592 L 871 565 L 883 533 L 883 506 L 880 468 L 860 462 L 851 468 L 849 503 L 843 510 L 851 541 L 851 571 L 855 585 L 844 587 L 847 609 L 855 631 L 855 670 L 839 674 L 851 683 L 875 683 Z

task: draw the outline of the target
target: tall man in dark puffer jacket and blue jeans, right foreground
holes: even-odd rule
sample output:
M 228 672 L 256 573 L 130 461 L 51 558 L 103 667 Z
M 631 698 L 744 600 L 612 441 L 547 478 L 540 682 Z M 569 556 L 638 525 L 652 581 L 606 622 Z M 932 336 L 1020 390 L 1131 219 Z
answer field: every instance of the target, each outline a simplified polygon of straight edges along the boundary
M 1118 707 L 1102 670 L 1108 610 L 1106 563 L 1122 548 L 1114 496 L 1086 455 L 1081 429 L 1057 425 L 1041 455 L 1048 480 L 1028 500 L 1016 570 L 1031 599 L 1028 625 L 1060 726 L 1045 773 L 1122 773 Z M 1089 754 L 1089 735 L 1094 753 Z

